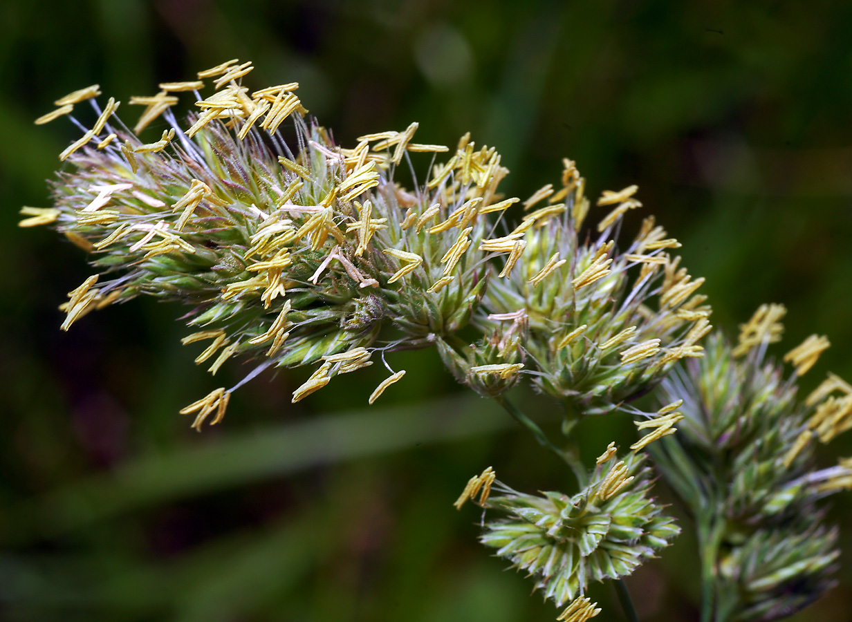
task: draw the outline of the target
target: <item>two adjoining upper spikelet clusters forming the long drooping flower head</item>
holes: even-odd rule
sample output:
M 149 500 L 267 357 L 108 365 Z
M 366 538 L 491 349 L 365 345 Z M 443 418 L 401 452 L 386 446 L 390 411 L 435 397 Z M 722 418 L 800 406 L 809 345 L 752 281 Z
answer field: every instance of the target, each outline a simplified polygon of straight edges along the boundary
M 211 374 L 234 356 L 261 361 L 237 385 L 184 408 L 196 413 L 193 427 L 210 414 L 220 421 L 231 392 L 270 366 L 319 365 L 293 391 L 297 402 L 378 354 L 390 375 L 374 402 L 405 374 L 386 353 L 438 344 L 476 390 L 496 394 L 530 374 L 544 391 L 594 410 L 642 391 L 677 359 L 700 356 L 710 309 L 694 294 L 703 279 L 663 253 L 679 243 L 650 217 L 625 253 L 614 248 L 622 217 L 641 206 L 636 186 L 605 191 L 598 203 L 614 208 L 602 235 L 579 243 L 589 201 L 566 160 L 561 189 L 534 193 L 521 225 L 498 236 L 502 214 L 520 199 L 498 194 L 509 171 L 493 148 L 477 149 L 469 134 L 454 150 L 418 144 L 417 123 L 343 148 L 303 119 L 297 83 L 242 86 L 252 68 L 230 60 L 131 98 L 144 106 L 133 131 L 118 119 L 118 101 L 95 103 L 97 85 L 57 100 L 36 122 L 70 117 L 87 100 L 97 115 L 91 128 L 71 117 L 84 134 L 60 154 L 74 168 L 54 182 L 55 207 L 22 210 L 21 226 L 53 223 L 100 271 L 69 293 L 62 328 L 151 294 L 193 305 L 188 323 L 200 330 L 183 343 L 207 344 L 196 362 L 212 360 Z M 214 92 L 203 97 L 209 79 Z M 184 130 L 171 107 L 185 93 L 198 113 Z M 159 140 L 138 138 L 161 119 Z M 295 131 L 285 140 L 288 119 Z M 433 157 L 422 185 L 409 158 L 420 152 Z M 394 180 L 403 160 L 413 191 Z M 628 285 L 633 265 L 640 271 Z M 99 281 L 105 275 L 113 278 Z M 646 304 L 654 294 L 656 309 Z M 471 321 L 483 338 L 465 345 L 456 333 Z

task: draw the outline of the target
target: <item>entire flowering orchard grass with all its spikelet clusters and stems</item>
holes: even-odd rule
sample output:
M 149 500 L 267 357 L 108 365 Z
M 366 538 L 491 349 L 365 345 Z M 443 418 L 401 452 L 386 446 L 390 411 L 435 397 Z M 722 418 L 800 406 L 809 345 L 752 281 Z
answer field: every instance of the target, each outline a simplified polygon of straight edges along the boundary
M 60 306 L 63 330 L 141 294 L 187 305 L 181 342 L 195 362 L 210 374 L 253 362 L 181 409 L 197 430 L 265 369 L 310 368 L 298 402 L 381 362 L 372 404 L 406 380 L 389 355 L 435 346 L 461 385 L 502 405 L 577 479 L 575 494 L 525 494 L 488 467 L 455 503 L 481 505 L 482 543 L 565 606 L 560 620 L 601 613 L 586 591 L 604 579 L 637 619 L 620 580 L 680 532 L 650 496 L 648 454 L 695 521 L 703 622 L 779 619 L 828 589 L 837 530 L 818 502 L 852 488 L 852 459 L 817 470 L 813 450 L 852 428 L 852 385 L 829 374 L 797 398 L 825 337 L 786 354 L 785 378 L 767 358 L 785 310 L 763 305 L 737 345 L 715 334 L 705 352 L 711 308 L 704 279 L 673 255 L 681 244 L 653 215 L 619 242 L 642 208 L 636 185 L 604 191 L 607 211 L 590 218 L 566 159 L 557 187 L 504 197 L 509 170 L 469 134 L 423 144 L 411 123 L 341 146 L 307 117 L 297 83 L 252 90 L 252 69 L 228 60 L 124 106 L 101 107 L 93 85 L 37 119 L 83 131 L 60 153 L 52 204 L 21 210 L 21 226 L 55 227 L 95 268 Z M 186 123 L 172 112 L 181 102 L 193 106 Z M 130 106 L 141 110 L 132 130 L 118 118 Z M 520 224 L 506 224 L 509 209 Z M 564 411 L 560 442 L 509 402 L 527 383 Z M 646 413 L 634 402 L 651 391 L 661 408 Z M 590 470 L 574 425 L 613 411 L 634 415 L 636 441 L 622 455 L 610 443 Z

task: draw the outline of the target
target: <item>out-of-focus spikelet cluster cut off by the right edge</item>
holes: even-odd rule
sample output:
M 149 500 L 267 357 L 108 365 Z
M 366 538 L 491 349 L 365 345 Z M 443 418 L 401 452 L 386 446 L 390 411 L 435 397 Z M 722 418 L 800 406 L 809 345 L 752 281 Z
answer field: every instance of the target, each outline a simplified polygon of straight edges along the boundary
M 682 397 L 680 433 L 649 448 L 704 537 L 717 541 L 717 619 L 771 620 L 805 607 L 831 585 L 837 532 L 817 501 L 852 488 L 852 461 L 818 470 L 813 451 L 852 427 L 852 387 L 829 378 L 805 399 L 797 378 L 827 340 L 788 353 L 786 375 L 766 357 L 780 340 L 780 305 L 764 305 L 731 345 L 712 334 L 706 356 L 677 368 L 662 398 Z

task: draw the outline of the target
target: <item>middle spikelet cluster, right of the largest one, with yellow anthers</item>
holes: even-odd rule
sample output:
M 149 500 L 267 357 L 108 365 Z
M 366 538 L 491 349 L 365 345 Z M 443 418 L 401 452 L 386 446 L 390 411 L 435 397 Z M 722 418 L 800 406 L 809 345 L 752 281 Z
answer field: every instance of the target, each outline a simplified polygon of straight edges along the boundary
M 597 203 L 611 211 L 585 231 L 585 180 L 564 165 L 561 190 L 544 186 L 524 203 L 521 225 L 483 242 L 510 252 L 475 322 L 505 331 L 522 313 L 516 334 L 533 384 L 574 412 L 601 414 L 648 391 L 678 359 L 700 357 L 711 310 L 696 293 L 704 279 L 679 267 L 669 251 L 680 243 L 653 216 L 617 246 L 625 214 L 642 206 L 635 185 L 605 191 Z

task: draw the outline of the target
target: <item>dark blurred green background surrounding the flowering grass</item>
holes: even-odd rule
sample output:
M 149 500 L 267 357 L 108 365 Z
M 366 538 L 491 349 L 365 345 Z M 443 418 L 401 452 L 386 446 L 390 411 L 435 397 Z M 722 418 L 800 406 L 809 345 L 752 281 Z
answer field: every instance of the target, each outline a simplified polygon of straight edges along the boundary
M 100 83 L 126 101 L 239 57 L 250 85 L 302 83 L 344 145 L 414 120 L 421 142 L 470 130 L 521 197 L 571 157 L 590 197 L 640 185 L 707 278 L 714 324 L 733 333 L 774 301 L 789 309 L 776 356 L 827 334 L 809 390 L 827 369 L 852 378 L 850 31 L 849 3 L 0 3 L 0 619 L 554 619 L 476 544 L 475 508 L 451 504 L 486 465 L 522 490 L 573 486 L 431 351 L 394 355 L 409 373 L 373 408 L 381 369 L 296 405 L 305 374 L 267 374 L 222 425 L 191 431 L 177 410 L 223 383 L 179 344 L 182 310 L 135 300 L 62 333 L 56 306 L 85 258 L 16 227 L 78 137 L 65 120 L 32 125 L 53 100 Z M 556 432 L 550 402 L 518 399 Z M 589 460 L 630 433 L 618 416 L 579 431 Z M 852 454 L 849 436 L 826 464 Z M 795 620 L 849 621 L 850 516 L 847 494 L 832 508 L 841 587 Z M 642 619 L 697 619 L 697 572 L 685 534 L 628 580 Z M 623 619 L 611 590 L 592 588 L 600 619 Z

